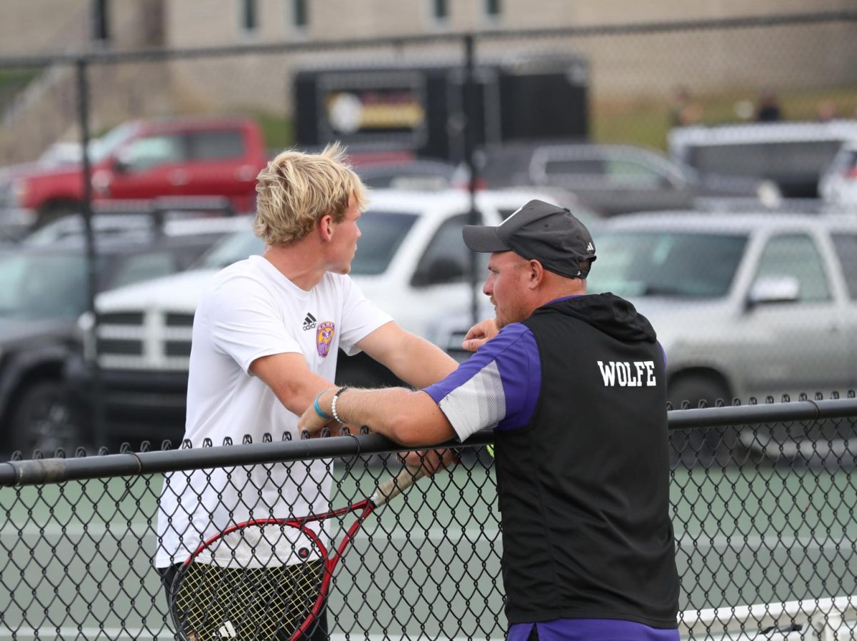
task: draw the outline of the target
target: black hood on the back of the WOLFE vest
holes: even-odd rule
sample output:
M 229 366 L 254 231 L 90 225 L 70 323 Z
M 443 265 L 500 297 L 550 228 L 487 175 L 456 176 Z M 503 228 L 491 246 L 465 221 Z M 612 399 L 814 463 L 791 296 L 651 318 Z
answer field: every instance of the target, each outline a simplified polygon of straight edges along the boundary
M 554 301 L 536 309 L 533 315 L 548 309 L 584 321 L 623 343 L 654 343 L 657 340 L 649 319 L 624 298 L 609 292 Z

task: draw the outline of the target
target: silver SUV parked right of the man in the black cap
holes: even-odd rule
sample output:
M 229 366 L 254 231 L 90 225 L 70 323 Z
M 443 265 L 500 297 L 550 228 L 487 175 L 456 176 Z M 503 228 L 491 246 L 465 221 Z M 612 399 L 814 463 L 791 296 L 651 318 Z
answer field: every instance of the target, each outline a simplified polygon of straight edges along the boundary
M 674 405 L 857 385 L 857 221 L 742 213 L 632 214 L 597 228 L 589 291 L 646 315 Z M 437 321 L 456 350 L 469 319 Z

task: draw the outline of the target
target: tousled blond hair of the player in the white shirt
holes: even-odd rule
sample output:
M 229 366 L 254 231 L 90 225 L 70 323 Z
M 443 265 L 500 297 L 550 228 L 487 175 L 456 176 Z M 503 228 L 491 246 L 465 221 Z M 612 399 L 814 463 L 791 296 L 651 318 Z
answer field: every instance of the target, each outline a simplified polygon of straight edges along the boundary
M 341 222 L 352 195 L 357 207 L 366 207 L 366 188 L 339 142 L 321 153 L 280 153 L 256 180 L 253 230 L 269 245 L 296 243 L 327 214 Z

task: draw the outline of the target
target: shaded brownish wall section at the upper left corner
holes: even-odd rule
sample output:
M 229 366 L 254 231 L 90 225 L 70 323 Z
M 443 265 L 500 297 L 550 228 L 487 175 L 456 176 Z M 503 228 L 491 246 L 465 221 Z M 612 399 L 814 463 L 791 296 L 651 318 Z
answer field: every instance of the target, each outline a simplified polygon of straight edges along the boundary
M 93 46 L 88 0 L 3 0 L 0 8 L 0 55 L 87 51 Z M 111 3 L 110 24 L 111 47 L 162 45 L 163 0 Z M 130 117 L 174 109 L 164 65 L 93 65 L 88 82 L 93 135 Z M 32 160 L 55 141 L 80 140 L 77 77 L 72 66 L 45 69 L 3 107 L 0 163 Z

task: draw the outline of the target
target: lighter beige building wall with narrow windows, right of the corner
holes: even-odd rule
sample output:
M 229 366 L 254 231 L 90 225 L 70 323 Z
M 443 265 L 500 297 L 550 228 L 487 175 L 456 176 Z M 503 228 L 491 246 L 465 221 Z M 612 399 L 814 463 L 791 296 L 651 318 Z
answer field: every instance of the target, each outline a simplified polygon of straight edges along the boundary
M 240 25 L 242 0 L 209 0 L 199 11 L 194 0 L 171 0 L 166 12 L 170 45 L 193 47 L 239 43 L 291 43 L 371 39 L 407 34 L 503 31 L 545 27 L 586 27 L 641 22 L 692 21 L 735 16 L 781 15 L 854 8 L 854 0 L 500 0 L 498 18 L 485 15 L 485 0 L 447 0 L 448 20 L 436 21 L 431 0 L 306 0 L 309 26 L 290 25 L 292 0 L 257 0 L 258 29 Z M 595 35 L 552 39 L 479 41 L 478 52 L 561 53 L 577 51 L 590 60 L 596 99 L 668 94 L 676 84 L 695 93 L 717 93 L 761 85 L 836 87 L 857 83 L 854 23 L 818 27 L 734 29 L 656 35 Z M 189 105 L 254 104 L 262 111 L 289 110 L 291 69 L 327 60 L 412 59 L 460 55 L 461 46 L 405 46 L 315 53 L 303 56 L 220 58 L 175 63 L 177 84 Z M 849 63 L 849 61 L 852 61 Z

